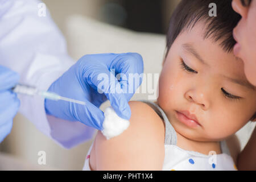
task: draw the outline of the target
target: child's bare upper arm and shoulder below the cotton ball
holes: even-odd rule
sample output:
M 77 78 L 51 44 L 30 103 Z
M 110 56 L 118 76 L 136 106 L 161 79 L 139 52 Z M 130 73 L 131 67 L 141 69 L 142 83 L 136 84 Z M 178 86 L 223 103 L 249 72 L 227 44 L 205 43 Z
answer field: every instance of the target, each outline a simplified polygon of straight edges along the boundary
M 143 102 L 130 101 L 130 126 L 121 135 L 107 140 L 96 136 L 97 170 L 162 170 L 164 123 Z

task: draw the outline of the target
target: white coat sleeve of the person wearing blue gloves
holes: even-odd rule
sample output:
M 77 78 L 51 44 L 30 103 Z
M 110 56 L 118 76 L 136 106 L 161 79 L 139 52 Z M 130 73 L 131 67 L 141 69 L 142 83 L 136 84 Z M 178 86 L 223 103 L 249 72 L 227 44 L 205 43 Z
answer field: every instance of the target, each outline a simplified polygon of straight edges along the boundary
M 0 0 L 0 64 L 20 75 L 20 83 L 48 90 L 75 61 L 49 12 L 39 16 L 37 0 Z M 94 129 L 46 114 L 44 99 L 21 96 L 26 118 L 57 143 L 71 148 L 93 137 Z

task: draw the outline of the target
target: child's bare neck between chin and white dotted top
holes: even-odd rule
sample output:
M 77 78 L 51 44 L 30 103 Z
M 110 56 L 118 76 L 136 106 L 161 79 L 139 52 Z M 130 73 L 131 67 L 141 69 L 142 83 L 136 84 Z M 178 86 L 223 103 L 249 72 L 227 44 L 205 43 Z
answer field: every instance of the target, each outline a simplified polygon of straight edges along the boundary
M 177 133 L 177 146 L 188 151 L 195 151 L 201 154 L 209 155 L 210 151 L 215 151 L 216 154 L 221 154 L 220 142 L 199 142 L 185 138 Z

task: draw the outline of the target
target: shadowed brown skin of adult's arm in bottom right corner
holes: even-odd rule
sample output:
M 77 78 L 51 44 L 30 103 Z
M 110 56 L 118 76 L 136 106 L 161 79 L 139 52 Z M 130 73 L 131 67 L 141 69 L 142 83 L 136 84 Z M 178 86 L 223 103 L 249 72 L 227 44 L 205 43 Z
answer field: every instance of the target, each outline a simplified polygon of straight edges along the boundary
M 256 127 L 249 142 L 238 155 L 237 167 L 239 170 L 256 170 Z

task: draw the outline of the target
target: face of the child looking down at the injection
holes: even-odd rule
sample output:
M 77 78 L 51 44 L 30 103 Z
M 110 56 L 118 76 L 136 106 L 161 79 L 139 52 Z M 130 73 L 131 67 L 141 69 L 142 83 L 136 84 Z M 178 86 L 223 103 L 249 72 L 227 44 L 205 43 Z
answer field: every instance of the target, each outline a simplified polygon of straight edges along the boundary
M 158 104 L 179 134 L 193 140 L 217 141 L 249 121 L 255 113 L 256 91 L 232 81 L 247 83 L 242 60 L 202 35 L 202 24 L 196 23 L 190 32 L 184 31 L 175 39 L 159 78 Z M 192 72 L 184 70 L 182 60 Z M 241 98 L 229 98 L 225 93 Z M 200 125 L 191 127 L 180 122 L 176 111 L 181 110 L 195 114 Z

